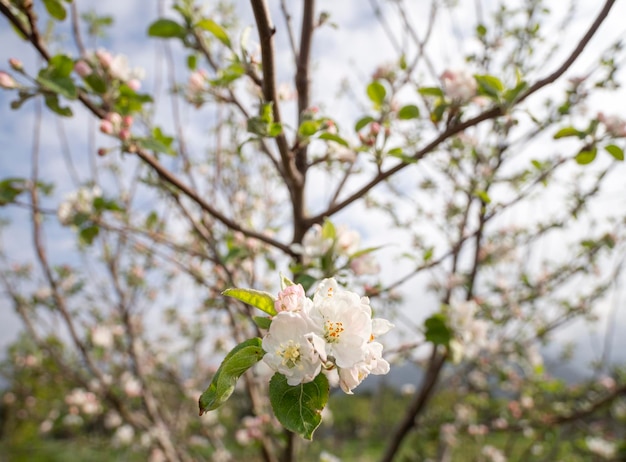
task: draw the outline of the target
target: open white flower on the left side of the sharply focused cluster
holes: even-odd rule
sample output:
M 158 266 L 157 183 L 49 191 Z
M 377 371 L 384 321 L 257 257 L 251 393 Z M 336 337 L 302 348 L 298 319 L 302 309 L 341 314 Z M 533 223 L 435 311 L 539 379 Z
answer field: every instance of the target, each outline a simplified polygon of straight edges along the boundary
M 309 330 L 302 314 L 282 311 L 263 338 L 263 360 L 287 377 L 289 385 L 310 382 L 321 370 L 319 355 L 307 337 Z

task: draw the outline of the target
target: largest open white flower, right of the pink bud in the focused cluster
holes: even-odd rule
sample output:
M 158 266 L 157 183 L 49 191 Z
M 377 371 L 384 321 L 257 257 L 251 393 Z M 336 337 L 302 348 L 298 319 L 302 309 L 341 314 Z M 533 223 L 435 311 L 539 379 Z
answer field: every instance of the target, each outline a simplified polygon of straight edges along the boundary
M 323 357 L 335 364 L 352 367 L 365 357 L 365 345 L 372 335 L 372 309 L 367 297 L 339 289 L 334 279 L 324 279 L 313 296 L 309 312 L 314 334 L 324 340 Z

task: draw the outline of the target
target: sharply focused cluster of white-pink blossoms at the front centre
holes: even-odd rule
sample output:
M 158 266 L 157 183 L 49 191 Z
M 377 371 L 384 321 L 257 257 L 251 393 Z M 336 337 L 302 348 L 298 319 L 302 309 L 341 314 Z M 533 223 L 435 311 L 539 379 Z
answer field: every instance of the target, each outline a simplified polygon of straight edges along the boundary
M 389 372 L 376 338 L 392 327 L 372 319 L 367 297 L 343 290 L 333 278 L 320 282 L 313 299 L 301 285 L 287 286 L 275 301 L 274 316 L 263 338 L 263 360 L 287 378 L 307 383 L 324 373 L 331 384 L 351 394 L 369 374 Z

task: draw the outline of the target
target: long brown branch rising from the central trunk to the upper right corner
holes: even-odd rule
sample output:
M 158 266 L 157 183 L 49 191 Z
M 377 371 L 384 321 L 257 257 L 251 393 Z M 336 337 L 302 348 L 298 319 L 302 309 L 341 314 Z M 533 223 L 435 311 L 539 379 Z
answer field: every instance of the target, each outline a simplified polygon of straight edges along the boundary
M 608 15 L 609 11 L 611 10 L 611 7 L 613 6 L 614 3 L 615 3 L 615 0 L 607 0 L 606 1 L 606 3 L 604 4 L 604 7 L 602 8 L 600 13 L 596 17 L 595 21 L 589 27 L 589 30 L 587 31 L 587 33 L 583 36 L 583 38 L 580 40 L 580 42 L 578 43 L 576 48 L 574 48 L 574 50 L 572 51 L 570 56 L 563 62 L 563 64 L 561 64 L 561 66 L 556 71 L 554 71 L 552 74 L 548 75 L 547 77 L 545 77 L 545 78 L 543 78 L 541 80 L 538 80 L 531 87 L 529 87 L 524 93 L 522 93 L 520 95 L 520 97 L 514 103 L 513 106 L 518 105 L 519 103 L 521 103 L 526 98 L 528 98 L 532 94 L 536 93 L 537 91 L 539 91 L 540 89 L 542 89 L 546 85 L 549 85 L 550 83 L 553 83 L 559 77 L 561 77 L 565 73 L 565 71 L 567 71 L 567 69 L 569 69 L 569 67 L 574 63 L 574 61 L 576 61 L 576 59 L 580 56 L 580 54 L 585 49 L 585 47 L 587 46 L 587 44 L 589 43 L 591 38 L 597 32 L 597 30 L 599 29 L 600 25 L 602 24 L 604 19 L 607 17 L 607 15 Z M 511 107 L 513 107 L 513 106 L 511 106 Z M 354 194 L 352 194 L 351 196 L 349 196 L 346 199 L 344 199 L 342 202 L 339 202 L 339 203 L 335 204 L 334 206 L 328 207 L 328 209 L 326 209 L 324 212 L 322 212 L 322 213 L 320 213 L 318 215 L 310 217 L 307 220 L 306 224 L 308 226 L 311 226 L 314 223 L 321 223 L 324 220 L 325 217 L 330 217 L 330 216 L 334 215 L 335 213 L 339 212 L 340 210 L 344 209 L 348 205 L 352 204 L 353 202 L 355 202 L 358 199 L 360 199 L 361 197 L 363 197 L 364 194 L 366 194 L 368 191 L 370 191 L 372 188 L 374 188 L 375 186 L 377 186 L 381 182 L 385 181 L 387 178 L 391 177 L 392 175 L 394 175 L 395 173 L 399 172 L 400 170 L 403 170 L 405 167 L 407 167 L 408 165 L 411 165 L 413 162 L 419 161 L 420 159 L 424 158 L 427 154 L 432 152 L 443 141 L 447 140 L 451 136 L 456 135 L 457 133 L 461 133 L 464 130 L 466 130 L 466 129 L 470 128 L 470 127 L 476 126 L 476 125 L 478 125 L 478 124 L 480 124 L 480 123 L 482 123 L 482 122 L 484 122 L 486 120 L 494 119 L 496 117 L 504 115 L 504 114 L 507 113 L 508 110 L 511 109 L 511 107 L 507 107 L 505 105 L 498 105 L 498 106 L 495 106 L 495 107 L 493 107 L 491 109 L 488 109 L 488 110 L 484 111 L 483 113 L 481 113 L 481 114 L 479 114 L 479 115 L 477 115 L 477 116 L 475 116 L 475 117 L 473 117 L 471 119 L 468 119 L 468 120 L 466 120 L 464 122 L 461 122 L 461 123 L 449 126 L 443 133 L 439 134 L 439 136 L 437 136 L 433 141 L 431 141 L 426 146 L 424 146 L 422 149 L 420 149 L 415 154 L 413 154 L 411 156 L 412 162 L 410 162 L 410 163 L 400 162 L 399 164 L 397 164 L 396 166 L 390 168 L 389 170 L 380 172 L 378 175 L 376 175 L 374 178 L 372 178 L 367 184 L 362 186 L 358 191 L 356 191 Z

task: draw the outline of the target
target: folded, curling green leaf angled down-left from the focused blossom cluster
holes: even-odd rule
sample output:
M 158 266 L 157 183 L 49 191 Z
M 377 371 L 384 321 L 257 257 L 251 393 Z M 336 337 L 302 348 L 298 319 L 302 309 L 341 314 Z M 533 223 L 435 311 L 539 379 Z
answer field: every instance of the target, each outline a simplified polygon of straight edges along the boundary
M 264 354 L 260 338 L 251 338 L 233 348 L 222 361 L 209 387 L 200 395 L 200 415 L 224 404 L 233 394 L 239 377 L 258 363 Z

